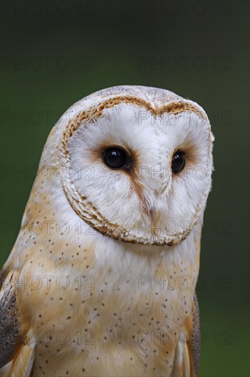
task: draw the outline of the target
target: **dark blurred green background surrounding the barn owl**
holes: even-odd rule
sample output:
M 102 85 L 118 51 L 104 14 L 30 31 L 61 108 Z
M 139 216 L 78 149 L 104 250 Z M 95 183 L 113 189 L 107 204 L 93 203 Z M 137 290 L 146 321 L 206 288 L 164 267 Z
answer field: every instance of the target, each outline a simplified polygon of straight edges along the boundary
M 46 137 L 85 95 L 167 88 L 212 123 L 202 238 L 200 376 L 249 376 L 249 2 L 1 1 L 1 263 Z

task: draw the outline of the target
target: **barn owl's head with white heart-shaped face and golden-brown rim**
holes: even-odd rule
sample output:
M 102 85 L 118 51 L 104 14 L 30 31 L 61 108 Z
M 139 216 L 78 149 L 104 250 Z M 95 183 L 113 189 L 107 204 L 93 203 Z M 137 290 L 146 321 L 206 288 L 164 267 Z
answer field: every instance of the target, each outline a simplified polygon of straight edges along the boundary
M 193 101 L 115 86 L 74 104 L 57 130 L 64 195 L 96 230 L 131 243 L 176 245 L 202 219 L 213 136 Z

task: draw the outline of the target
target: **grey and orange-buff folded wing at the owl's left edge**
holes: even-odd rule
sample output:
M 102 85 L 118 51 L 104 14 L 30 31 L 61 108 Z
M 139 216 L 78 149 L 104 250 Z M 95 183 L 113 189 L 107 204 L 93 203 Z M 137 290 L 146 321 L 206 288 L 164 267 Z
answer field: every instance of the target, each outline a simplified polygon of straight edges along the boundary
M 35 356 L 35 344 L 21 341 L 16 300 L 18 271 L 7 276 L 0 271 L 0 375 L 29 376 Z

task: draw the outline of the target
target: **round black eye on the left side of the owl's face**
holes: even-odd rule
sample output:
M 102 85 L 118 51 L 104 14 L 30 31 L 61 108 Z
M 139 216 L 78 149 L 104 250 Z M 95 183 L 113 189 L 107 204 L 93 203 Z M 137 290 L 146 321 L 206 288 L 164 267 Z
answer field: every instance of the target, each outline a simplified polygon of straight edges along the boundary
M 128 154 L 124 149 L 109 147 L 102 154 L 102 160 L 111 169 L 122 169 L 129 167 Z

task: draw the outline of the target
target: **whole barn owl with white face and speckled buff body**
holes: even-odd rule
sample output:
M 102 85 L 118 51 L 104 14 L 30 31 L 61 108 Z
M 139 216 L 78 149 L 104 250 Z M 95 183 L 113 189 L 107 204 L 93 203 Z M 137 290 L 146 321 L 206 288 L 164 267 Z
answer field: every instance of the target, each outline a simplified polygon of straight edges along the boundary
M 214 138 L 168 90 L 115 86 L 57 121 L 1 278 L 1 376 L 197 376 Z

